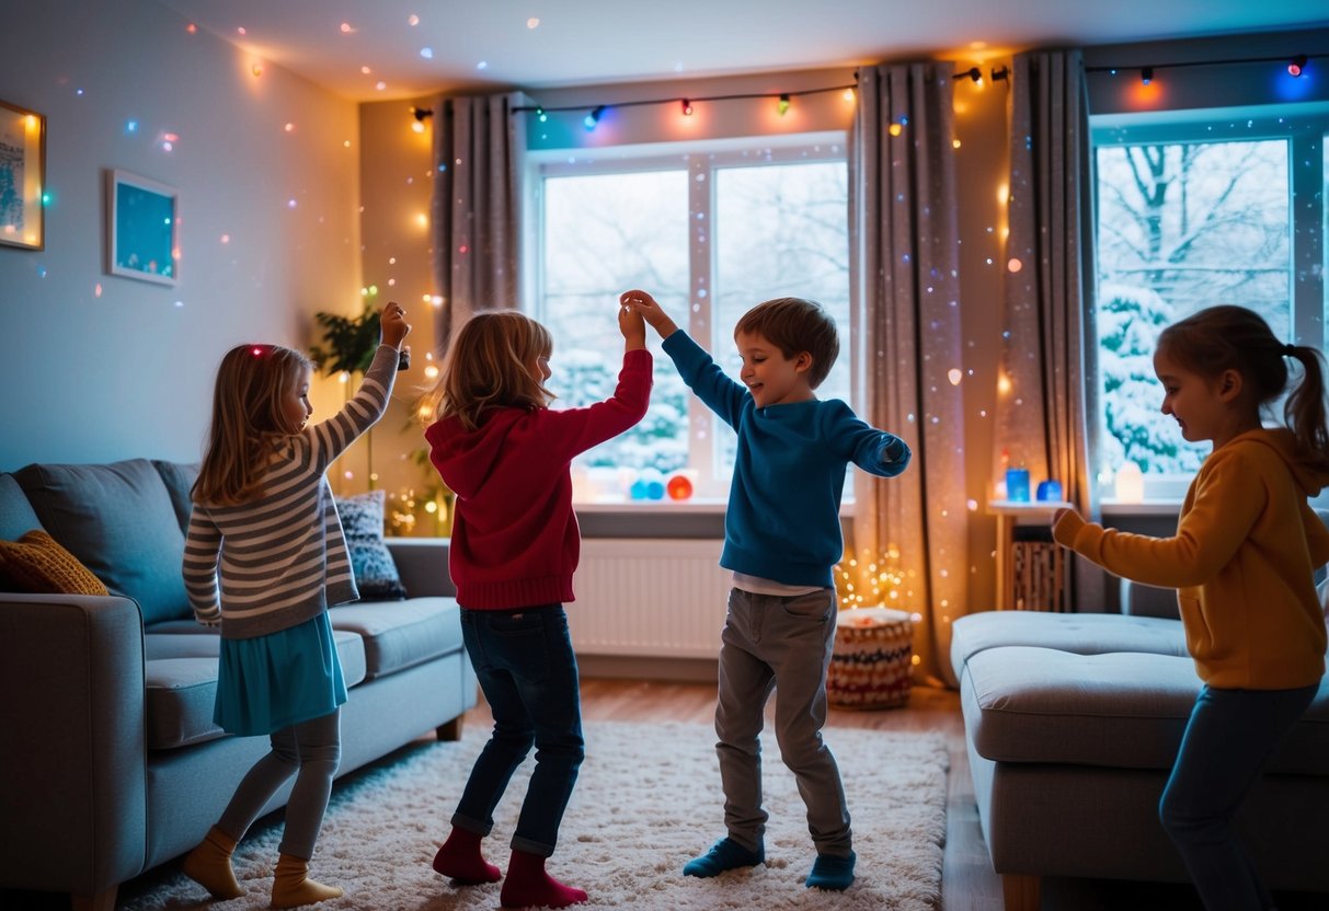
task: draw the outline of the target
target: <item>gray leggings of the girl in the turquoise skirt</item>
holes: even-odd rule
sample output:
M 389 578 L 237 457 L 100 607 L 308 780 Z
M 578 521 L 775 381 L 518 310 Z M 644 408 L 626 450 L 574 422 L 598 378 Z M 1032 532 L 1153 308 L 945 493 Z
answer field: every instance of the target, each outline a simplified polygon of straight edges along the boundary
M 278 850 L 308 861 L 342 762 L 342 709 L 274 730 L 271 741 L 272 750 L 245 774 L 217 827 L 241 841 L 263 805 L 295 776 Z

